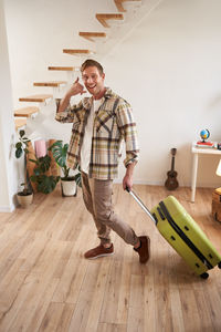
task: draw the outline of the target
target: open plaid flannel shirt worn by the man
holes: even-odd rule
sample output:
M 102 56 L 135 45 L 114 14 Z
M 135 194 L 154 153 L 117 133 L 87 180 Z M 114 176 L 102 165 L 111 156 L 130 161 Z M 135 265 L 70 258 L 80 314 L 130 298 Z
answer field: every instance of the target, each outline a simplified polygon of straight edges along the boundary
M 81 165 L 81 146 L 84 129 L 92 107 L 93 97 L 85 97 L 76 105 L 69 105 L 64 112 L 57 112 L 55 120 L 61 123 L 73 123 L 72 136 L 67 152 L 67 166 L 75 168 Z M 56 100 L 57 110 L 60 100 Z M 122 141 L 125 141 L 125 167 L 138 160 L 138 143 L 136 123 L 130 105 L 106 90 L 102 104 L 95 112 L 92 152 L 88 176 L 97 179 L 113 179 L 118 174 L 118 159 Z

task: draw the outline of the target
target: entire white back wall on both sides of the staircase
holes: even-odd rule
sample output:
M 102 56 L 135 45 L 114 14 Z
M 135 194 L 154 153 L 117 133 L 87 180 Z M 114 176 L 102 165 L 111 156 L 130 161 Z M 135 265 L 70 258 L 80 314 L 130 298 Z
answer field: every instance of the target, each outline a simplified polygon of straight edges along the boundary
M 180 185 L 191 179 L 191 142 L 201 128 L 221 141 L 221 2 L 220 0 L 162 0 L 143 15 L 126 38 L 103 55 L 106 83 L 134 107 L 141 148 L 135 181 L 164 184 L 177 147 Z M 49 92 L 34 81 L 64 79 L 48 65 L 78 64 L 63 48 L 92 48 L 78 31 L 103 31 L 95 12 L 116 11 L 114 1 L 7 0 L 7 27 L 13 98 Z M 147 3 L 147 0 L 144 0 Z M 154 1 L 152 1 L 154 3 Z M 90 4 L 90 6 L 88 6 Z M 97 55 L 99 60 L 101 56 Z M 53 129 L 54 127 L 54 129 Z M 51 126 L 66 138 L 70 127 Z M 202 157 L 198 185 L 219 186 L 214 175 L 219 157 Z M 124 169 L 120 167 L 120 176 Z

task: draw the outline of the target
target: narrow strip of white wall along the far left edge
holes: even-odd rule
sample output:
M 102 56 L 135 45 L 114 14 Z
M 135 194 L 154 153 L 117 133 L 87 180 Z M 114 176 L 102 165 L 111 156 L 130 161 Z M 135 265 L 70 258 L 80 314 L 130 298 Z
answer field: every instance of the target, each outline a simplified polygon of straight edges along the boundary
M 17 180 L 12 157 L 14 139 L 12 91 L 2 0 L 0 0 L 0 211 L 8 212 L 14 209 Z

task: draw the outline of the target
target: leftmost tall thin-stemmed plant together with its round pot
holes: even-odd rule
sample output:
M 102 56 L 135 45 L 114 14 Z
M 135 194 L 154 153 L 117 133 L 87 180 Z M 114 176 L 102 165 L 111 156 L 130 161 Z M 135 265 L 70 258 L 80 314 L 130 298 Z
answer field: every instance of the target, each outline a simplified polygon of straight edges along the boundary
M 15 157 L 20 158 L 24 155 L 24 183 L 21 184 L 23 186 L 23 190 L 17 194 L 17 198 L 19 205 L 21 207 L 28 207 L 33 201 L 33 190 L 31 185 L 28 183 L 28 172 L 27 172 L 27 156 L 29 154 L 29 146 L 30 139 L 25 137 L 25 132 L 19 132 L 19 142 L 15 144 Z

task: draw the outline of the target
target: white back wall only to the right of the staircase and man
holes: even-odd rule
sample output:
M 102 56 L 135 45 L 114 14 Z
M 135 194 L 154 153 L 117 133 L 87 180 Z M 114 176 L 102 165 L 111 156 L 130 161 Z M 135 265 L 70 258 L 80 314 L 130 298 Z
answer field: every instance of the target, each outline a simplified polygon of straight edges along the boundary
M 175 146 L 178 179 L 189 185 L 190 143 L 204 127 L 211 139 L 221 139 L 220 10 L 217 0 L 162 1 L 106 58 L 110 84 L 131 102 L 138 122 L 138 180 L 165 179 L 168 151 Z M 219 185 L 218 160 L 202 158 L 198 184 Z

